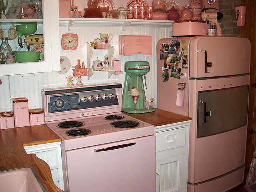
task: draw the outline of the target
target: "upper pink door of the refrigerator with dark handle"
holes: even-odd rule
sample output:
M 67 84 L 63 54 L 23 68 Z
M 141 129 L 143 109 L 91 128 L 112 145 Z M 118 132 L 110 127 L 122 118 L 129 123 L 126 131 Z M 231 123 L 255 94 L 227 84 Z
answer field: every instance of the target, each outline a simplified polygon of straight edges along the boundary
M 192 78 L 229 76 L 250 72 L 250 42 L 240 37 L 194 37 L 189 43 Z

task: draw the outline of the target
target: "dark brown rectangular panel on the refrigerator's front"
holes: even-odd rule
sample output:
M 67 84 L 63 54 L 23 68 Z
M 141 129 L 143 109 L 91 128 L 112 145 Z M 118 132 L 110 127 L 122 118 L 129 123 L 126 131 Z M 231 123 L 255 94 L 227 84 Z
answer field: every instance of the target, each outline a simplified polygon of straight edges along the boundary
M 248 85 L 198 91 L 197 138 L 247 124 Z

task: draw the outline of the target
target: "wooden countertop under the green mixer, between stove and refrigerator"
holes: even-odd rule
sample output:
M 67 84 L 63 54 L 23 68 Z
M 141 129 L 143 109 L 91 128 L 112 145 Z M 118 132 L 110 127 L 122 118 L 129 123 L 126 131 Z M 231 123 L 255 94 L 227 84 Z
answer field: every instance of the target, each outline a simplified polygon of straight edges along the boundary
M 192 118 L 190 117 L 179 115 L 176 113 L 168 112 L 168 111 L 157 109 L 157 108 L 155 111 L 148 112 L 148 113 L 139 113 L 139 114 L 131 114 L 127 112 L 122 112 L 122 113 L 128 116 L 132 116 L 138 120 L 152 124 L 155 127 L 192 120 Z

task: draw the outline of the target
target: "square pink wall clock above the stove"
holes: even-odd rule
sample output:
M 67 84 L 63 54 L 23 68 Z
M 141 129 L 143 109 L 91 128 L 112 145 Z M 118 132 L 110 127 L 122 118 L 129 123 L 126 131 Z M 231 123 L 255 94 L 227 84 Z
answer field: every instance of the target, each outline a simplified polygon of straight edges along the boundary
M 64 50 L 75 50 L 78 46 L 78 36 L 74 33 L 62 35 L 61 46 Z

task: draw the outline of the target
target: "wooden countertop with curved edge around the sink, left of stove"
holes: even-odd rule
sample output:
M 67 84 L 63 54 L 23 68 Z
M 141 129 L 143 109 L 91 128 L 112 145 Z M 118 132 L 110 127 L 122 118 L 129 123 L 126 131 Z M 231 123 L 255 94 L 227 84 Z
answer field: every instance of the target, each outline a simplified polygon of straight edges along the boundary
M 28 155 L 23 146 L 61 141 L 46 125 L 27 126 L 0 130 L 0 171 L 33 167 L 48 192 L 63 192 L 52 180 L 46 162 Z

